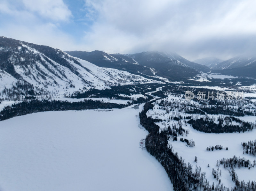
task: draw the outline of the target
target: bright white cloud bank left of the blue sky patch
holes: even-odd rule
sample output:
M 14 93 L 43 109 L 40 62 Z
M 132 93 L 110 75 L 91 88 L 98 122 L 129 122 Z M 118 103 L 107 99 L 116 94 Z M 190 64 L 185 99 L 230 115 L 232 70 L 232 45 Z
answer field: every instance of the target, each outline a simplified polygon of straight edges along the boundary
M 0 3 L 0 14 L 4 18 L 0 20 L 1 36 L 63 50 L 76 49 L 72 35 L 62 31 L 57 22 L 68 21 L 71 15 L 63 1 L 26 0 L 24 3 L 26 7 L 16 0 Z

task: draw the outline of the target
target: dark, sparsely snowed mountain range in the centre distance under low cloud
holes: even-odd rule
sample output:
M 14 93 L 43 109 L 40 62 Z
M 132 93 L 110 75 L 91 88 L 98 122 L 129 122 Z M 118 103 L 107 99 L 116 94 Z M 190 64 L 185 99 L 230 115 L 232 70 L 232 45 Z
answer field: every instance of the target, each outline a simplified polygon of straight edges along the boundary
M 108 54 L 102 51 L 66 51 L 66 53 L 100 67 L 125 70 L 152 79 L 164 77 L 173 81 L 185 81 L 200 72 L 210 71 L 208 67 L 190 62 L 176 53 L 157 51 L 137 54 Z

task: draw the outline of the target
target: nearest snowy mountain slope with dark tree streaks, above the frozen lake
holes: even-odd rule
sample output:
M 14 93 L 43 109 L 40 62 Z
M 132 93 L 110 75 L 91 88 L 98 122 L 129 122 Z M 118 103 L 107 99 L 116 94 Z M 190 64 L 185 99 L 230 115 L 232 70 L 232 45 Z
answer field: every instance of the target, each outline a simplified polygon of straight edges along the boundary
M 150 82 L 156 81 L 101 68 L 59 49 L 0 37 L 0 99 L 35 93 L 58 97 L 79 89 Z

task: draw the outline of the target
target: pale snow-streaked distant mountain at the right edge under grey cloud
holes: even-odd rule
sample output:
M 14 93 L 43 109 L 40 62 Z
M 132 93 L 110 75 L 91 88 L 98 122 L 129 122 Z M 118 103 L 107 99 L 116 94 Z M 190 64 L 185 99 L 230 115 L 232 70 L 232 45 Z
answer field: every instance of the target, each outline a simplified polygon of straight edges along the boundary
M 236 56 L 229 60 L 219 63 L 212 69 L 214 70 L 224 70 L 224 69 L 232 69 L 232 68 L 239 68 L 248 65 L 253 65 L 256 63 L 256 57 L 246 57 L 246 56 Z

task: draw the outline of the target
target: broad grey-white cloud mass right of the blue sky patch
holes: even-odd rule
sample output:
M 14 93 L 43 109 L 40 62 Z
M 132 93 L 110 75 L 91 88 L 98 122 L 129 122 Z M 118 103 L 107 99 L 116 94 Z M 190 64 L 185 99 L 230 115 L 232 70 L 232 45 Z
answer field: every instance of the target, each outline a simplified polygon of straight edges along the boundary
M 224 58 L 255 51 L 253 0 L 86 2 L 93 7 L 94 17 L 95 11 L 98 13 L 91 32 L 84 36 L 88 49 L 156 49 L 176 51 L 191 59 L 199 55 Z

